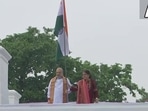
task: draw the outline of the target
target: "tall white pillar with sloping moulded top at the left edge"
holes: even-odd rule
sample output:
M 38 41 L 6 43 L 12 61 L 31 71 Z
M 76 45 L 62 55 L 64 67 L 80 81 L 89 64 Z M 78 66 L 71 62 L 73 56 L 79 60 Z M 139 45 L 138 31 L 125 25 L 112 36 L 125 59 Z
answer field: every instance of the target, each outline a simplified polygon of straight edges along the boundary
M 9 104 L 8 100 L 8 62 L 11 55 L 0 46 L 0 104 Z

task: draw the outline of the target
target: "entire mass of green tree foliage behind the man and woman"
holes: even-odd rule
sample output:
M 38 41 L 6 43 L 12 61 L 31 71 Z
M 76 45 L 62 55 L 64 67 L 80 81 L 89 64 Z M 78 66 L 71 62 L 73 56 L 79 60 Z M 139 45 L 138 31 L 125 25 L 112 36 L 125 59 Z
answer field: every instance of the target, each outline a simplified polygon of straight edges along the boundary
M 56 38 L 52 29 L 29 27 L 26 32 L 9 35 L 0 42 L 12 55 L 9 63 L 9 89 L 15 89 L 21 95 L 21 102 L 47 101 L 46 93 L 50 79 L 55 75 L 55 68 L 62 67 L 72 83 L 81 79 L 83 69 L 89 69 L 97 81 L 100 101 L 122 102 L 126 99 L 129 89 L 132 96 L 136 92 L 145 95 L 144 89 L 139 89 L 132 82 L 132 66 L 116 63 L 91 64 L 79 57 L 63 57 L 58 61 L 56 55 Z M 65 69 L 66 61 L 66 69 Z M 75 93 L 70 94 L 70 100 L 76 100 Z

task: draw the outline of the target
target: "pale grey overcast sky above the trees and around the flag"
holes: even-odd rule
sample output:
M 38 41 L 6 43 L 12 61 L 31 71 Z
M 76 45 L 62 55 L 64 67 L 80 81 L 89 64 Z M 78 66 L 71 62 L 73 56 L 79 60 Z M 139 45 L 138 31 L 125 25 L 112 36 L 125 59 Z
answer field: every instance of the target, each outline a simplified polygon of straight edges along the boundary
M 54 27 L 60 0 L 0 0 L 0 39 Z M 148 90 L 148 20 L 139 0 L 66 0 L 72 57 L 91 63 L 132 64 L 133 81 Z

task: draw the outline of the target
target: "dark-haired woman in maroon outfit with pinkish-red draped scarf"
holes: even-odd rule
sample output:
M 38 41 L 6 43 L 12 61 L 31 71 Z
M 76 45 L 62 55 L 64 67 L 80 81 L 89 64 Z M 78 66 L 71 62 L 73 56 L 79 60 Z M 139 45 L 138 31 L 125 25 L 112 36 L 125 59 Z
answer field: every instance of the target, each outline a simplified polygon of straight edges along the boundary
M 98 90 L 96 81 L 91 78 L 89 70 L 84 70 L 82 80 L 78 81 L 77 87 L 72 87 L 71 91 L 77 91 L 77 103 L 89 104 L 98 102 Z

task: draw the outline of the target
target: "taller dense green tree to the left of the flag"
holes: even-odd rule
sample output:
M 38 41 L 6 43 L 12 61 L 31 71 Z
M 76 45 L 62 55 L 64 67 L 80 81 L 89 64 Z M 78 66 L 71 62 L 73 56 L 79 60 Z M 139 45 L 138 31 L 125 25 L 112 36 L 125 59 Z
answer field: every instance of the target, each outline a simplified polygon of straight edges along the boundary
M 9 89 L 17 90 L 21 102 L 45 101 L 47 80 L 55 68 L 55 37 L 52 29 L 29 27 L 27 32 L 9 35 L 2 46 L 12 55 L 9 64 Z M 38 75 L 45 72 L 45 76 Z

